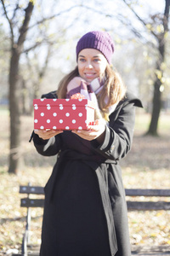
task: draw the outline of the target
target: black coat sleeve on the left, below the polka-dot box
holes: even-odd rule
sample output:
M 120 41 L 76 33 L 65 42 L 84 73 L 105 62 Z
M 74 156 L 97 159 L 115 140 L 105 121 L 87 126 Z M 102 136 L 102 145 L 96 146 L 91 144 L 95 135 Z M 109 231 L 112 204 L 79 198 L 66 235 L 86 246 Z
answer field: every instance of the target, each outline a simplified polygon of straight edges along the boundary
M 51 156 L 59 153 L 60 140 L 59 135 L 51 137 L 48 140 L 42 140 L 37 134 L 33 135 L 33 143 L 37 152 L 44 156 Z

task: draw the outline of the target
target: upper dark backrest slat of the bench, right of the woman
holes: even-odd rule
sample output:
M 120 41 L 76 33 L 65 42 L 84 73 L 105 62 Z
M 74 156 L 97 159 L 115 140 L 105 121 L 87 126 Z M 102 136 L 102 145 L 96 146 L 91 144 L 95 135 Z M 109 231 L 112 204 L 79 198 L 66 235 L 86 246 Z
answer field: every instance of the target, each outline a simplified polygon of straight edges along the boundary
M 125 189 L 129 196 L 170 196 L 170 189 Z

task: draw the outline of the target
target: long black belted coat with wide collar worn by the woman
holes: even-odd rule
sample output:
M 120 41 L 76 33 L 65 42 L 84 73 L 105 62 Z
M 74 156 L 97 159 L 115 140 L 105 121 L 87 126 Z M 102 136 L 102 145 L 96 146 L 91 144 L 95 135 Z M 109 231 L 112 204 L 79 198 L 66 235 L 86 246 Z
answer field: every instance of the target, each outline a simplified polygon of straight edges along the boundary
M 142 108 L 141 102 L 127 92 L 110 115 L 102 144 L 71 131 L 49 140 L 33 135 L 39 154 L 57 155 L 44 188 L 40 255 L 131 255 L 119 160 L 132 146 L 135 107 Z

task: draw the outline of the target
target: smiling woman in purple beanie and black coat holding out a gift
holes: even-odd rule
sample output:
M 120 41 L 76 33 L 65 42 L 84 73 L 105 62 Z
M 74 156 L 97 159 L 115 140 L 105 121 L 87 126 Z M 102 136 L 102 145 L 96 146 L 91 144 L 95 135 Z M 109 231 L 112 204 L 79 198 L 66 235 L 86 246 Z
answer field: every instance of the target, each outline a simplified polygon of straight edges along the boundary
M 139 99 L 111 68 L 107 32 L 88 32 L 77 43 L 77 67 L 46 98 L 81 93 L 96 104 L 88 131 L 34 131 L 39 154 L 58 154 L 45 186 L 41 256 L 130 256 L 127 205 L 119 160 L 133 140 Z

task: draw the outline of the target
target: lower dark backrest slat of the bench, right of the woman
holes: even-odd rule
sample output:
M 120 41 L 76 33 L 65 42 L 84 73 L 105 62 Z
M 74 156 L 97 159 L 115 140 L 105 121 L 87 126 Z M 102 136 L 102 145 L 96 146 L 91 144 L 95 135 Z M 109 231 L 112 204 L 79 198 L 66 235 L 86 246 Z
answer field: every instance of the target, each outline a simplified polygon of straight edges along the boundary
M 170 202 L 167 201 L 127 201 L 128 211 L 159 211 L 170 210 Z

